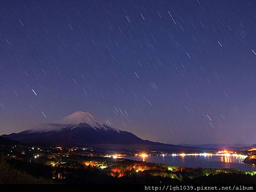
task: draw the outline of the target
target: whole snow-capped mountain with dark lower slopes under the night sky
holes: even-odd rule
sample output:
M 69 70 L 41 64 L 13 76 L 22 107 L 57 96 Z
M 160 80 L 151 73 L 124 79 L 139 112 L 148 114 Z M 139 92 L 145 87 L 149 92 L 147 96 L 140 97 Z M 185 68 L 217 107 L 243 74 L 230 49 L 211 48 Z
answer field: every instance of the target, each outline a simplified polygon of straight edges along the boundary
M 133 133 L 108 126 L 86 111 L 77 111 L 53 123 L 3 136 L 22 143 L 47 146 L 92 145 L 100 148 L 150 148 L 179 151 L 191 149 L 143 140 Z

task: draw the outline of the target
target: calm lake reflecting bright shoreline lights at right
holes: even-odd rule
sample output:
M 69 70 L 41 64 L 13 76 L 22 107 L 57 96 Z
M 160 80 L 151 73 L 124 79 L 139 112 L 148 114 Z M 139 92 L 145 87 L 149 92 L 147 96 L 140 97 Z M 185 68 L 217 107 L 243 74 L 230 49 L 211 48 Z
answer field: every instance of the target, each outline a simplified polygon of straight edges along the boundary
M 142 161 L 140 156 L 125 157 L 130 160 Z M 205 155 L 205 156 L 148 156 L 144 159 L 146 162 L 155 162 L 159 164 L 167 164 L 174 166 L 184 166 L 187 168 L 231 168 L 245 171 L 256 170 L 254 165 L 245 164 L 243 158 L 225 155 Z

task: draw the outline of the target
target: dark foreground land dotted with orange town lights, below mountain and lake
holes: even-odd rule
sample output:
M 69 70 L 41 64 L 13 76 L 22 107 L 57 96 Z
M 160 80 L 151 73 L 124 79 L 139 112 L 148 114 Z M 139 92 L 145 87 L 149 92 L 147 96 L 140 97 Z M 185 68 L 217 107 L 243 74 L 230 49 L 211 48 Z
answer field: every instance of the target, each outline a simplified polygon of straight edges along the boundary
M 106 155 L 93 148 L 0 145 L 1 184 L 256 184 L 256 172 L 192 169 Z

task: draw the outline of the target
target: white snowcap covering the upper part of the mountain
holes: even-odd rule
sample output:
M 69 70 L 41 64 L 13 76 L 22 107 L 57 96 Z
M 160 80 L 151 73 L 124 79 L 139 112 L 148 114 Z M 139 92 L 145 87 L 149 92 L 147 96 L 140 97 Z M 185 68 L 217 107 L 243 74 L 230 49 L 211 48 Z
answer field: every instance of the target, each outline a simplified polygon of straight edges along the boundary
M 83 127 L 83 126 L 89 126 L 94 128 L 97 131 L 100 130 L 112 130 L 117 131 L 119 130 L 109 127 L 105 123 L 101 122 L 100 119 L 97 119 L 95 116 L 90 114 L 87 111 L 76 111 L 71 115 L 65 116 L 62 119 L 56 120 L 53 123 L 48 124 L 42 124 L 39 127 L 34 127 L 31 130 L 28 130 L 30 132 L 47 132 L 47 131 L 61 131 L 63 128 L 76 128 L 76 127 Z

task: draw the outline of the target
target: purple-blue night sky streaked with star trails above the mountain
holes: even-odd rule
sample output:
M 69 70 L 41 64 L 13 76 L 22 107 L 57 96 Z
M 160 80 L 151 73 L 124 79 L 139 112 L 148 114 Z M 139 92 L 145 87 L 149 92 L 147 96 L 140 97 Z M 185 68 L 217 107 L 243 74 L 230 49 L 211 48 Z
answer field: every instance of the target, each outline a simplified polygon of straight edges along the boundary
M 255 143 L 256 1 L 1 1 L 0 134 L 89 111 L 164 143 Z

